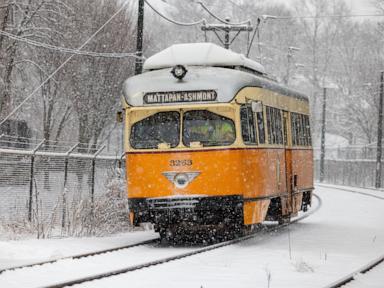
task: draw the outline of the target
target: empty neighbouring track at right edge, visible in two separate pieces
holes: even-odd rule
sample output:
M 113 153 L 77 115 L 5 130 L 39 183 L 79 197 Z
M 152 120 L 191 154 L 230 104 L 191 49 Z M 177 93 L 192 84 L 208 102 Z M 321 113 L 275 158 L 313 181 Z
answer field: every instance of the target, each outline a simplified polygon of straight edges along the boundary
M 340 190 L 340 191 L 348 192 L 348 193 L 360 194 L 360 195 L 363 195 L 363 196 L 384 200 L 384 197 L 381 197 L 381 196 L 378 196 L 378 195 L 374 195 L 374 194 L 370 194 L 370 193 L 366 193 L 366 192 L 362 192 L 362 191 L 351 190 L 351 189 L 348 189 L 348 188 L 333 187 L 333 186 L 329 187 L 328 185 L 322 185 L 322 184 L 317 184 L 317 186 L 320 186 L 320 187 L 323 187 L 323 188 L 336 189 L 336 190 Z M 360 267 L 356 271 L 353 271 L 352 273 L 349 273 L 348 275 L 345 275 L 344 277 L 336 280 L 335 282 L 332 282 L 331 284 L 325 286 L 324 288 L 340 288 L 340 287 L 343 287 L 344 285 L 354 281 L 356 276 L 358 276 L 360 274 L 368 273 L 369 271 L 371 271 L 373 268 L 375 268 L 376 266 L 380 265 L 381 263 L 384 263 L 384 255 L 380 256 L 377 259 L 374 259 L 373 261 L 371 261 L 371 262 L 367 263 L 366 265 Z

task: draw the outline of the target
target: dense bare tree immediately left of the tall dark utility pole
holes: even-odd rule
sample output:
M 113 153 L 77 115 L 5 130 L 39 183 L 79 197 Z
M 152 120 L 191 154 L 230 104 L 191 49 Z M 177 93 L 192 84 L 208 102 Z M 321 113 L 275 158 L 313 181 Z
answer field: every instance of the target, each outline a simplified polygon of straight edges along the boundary
M 72 29 L 79 33 L 69 35 L 76 46 L 94 33 L 118 9 L 118 4 L 96 1 L 95 5 L 73 0 L 76 11 Z M 135 47 L 134 18 L 129 11 L 119 14 L 110 25 L 87 45 L 92 51 L 132 52 Z M 75 44 L 76 43 L 76 44 Z M 78 120 L 78 141 L 96 144 L 100 135 L 115 119 L 120 106 L 122 82 L 133 73 L 132 58 L 103 59 L 74 57 L 65 69 L 66 93 L 70 97 Z

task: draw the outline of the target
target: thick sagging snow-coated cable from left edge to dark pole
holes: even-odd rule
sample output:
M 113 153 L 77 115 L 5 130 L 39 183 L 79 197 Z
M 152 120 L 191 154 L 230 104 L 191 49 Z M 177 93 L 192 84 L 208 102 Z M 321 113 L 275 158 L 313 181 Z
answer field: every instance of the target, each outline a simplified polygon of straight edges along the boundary
M 28 39 L 25 37 L 20 37 L 17 35 L 14 35 L 12 33 L 8 33 L 5 31 L 0 30 L 0 35 L 6 36 L 10 39 L 13 39 L 15 41 L 20 41 L 24 42 L 26 44 L 35 46 L 35 47 L 40 47 L 40 48 L 45 48 L 61 53 L 67 53 L 67 54 L 76 54 L 76 55 L 82 55 L 82 56 L 90 56 L 90 57 L 102 57 L 102 58 L 127 58 L 127 57 L 133 57 L 133 58 L 139 58 L 142 59 L 142 57 L 139 57 L 136 55 L 136 53 L 107 53 L 107 52 L 94 52 L 94 51 L 80 51 L 78 49 L 71 49 L 71 48 L 66 48 L 66 47 L 60 47 L 60 46 L 55 46 L 47 43 L 42 43 L 36 40 Z

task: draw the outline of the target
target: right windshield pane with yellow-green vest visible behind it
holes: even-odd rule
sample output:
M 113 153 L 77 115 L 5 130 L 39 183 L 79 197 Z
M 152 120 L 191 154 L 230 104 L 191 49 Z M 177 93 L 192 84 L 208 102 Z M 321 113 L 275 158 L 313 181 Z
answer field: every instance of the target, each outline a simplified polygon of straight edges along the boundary
M 183 143 L 188 147 L 192 142 L 200 142 L 203 146 L 226 146 L 236 138 L 231 119 L 205 110 L 186 112 L 183 125 Z

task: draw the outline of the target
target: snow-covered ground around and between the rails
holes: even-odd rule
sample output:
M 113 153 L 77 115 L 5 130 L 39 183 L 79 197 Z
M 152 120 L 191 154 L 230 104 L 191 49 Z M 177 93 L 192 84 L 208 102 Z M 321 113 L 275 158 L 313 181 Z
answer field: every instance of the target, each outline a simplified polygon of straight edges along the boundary
M 300 223 L 278 232 L 260 233 L 254 239 L 236 245 L 78 287 L 324 287 L 383 254 L 383 200 L 324 186 L 318 186 L 316 193 L 323 200 L 322 208 Z M 3 267 L 12 266 L 120 246 L 154 235 L 135 232 L 110 238 L 0 242 L 0 263 Z M 157 254 L 156 248 L 147 249 Z M 134 253 L 131 258 L 136 262 L 145 261 L 143 255 L 147 252 L 144 250 L 145 247 L 142 253 Z M 175 250 L 182 252 L 184 249 Z M 65 261 L 69 267 L 72 260 Z M 122 262 L 121 259 L 109 261 Z M 129 261 L 126 262 L 129 266 Z M 105 271 L 113 264 L 106 261 Z M 88 266 L 89 263 L 84 261 L 84 270 L 88 270 Z M 32 277 L 36 278 L 27 272 L 18 270 L 0 274 L 0 286 L 28 287 L 25 285 L 28 281 L 23 284 L 20 281 L 22 285 L 17 285 L 17 279 L 22 277 L 31 277 L 31 281 L 34 280 Z M 58 276 L 46 273 L 44 277 L 57 279 Z M 7 282 L 12 278 L 12 283 Z M 375 281 L 384 283 L 384 273 L 377 273 Z

